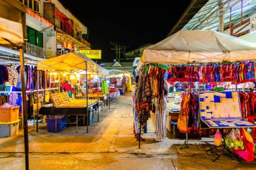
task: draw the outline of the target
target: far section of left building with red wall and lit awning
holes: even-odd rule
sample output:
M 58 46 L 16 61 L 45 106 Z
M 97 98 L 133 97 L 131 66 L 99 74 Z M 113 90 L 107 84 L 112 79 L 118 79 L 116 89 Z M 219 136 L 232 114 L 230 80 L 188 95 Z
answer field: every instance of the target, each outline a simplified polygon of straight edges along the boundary
M 77 52 L 78 50 L 90 50 L 90 43 L 87 41 L 88 28 L 82 24 L 67 8 L 59 1 L 41 1 L 40 5 L 44 16 L 53 26 L 57 56 L 67 52 Z

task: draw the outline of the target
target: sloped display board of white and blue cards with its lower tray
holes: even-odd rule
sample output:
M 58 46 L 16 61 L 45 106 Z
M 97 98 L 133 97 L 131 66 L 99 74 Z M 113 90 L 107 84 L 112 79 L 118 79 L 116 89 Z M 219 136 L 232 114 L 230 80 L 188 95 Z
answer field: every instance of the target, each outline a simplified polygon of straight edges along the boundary
M 256 127 L 244 120 L 237 91 L 199 93 L 200 118 L 210 128 Z

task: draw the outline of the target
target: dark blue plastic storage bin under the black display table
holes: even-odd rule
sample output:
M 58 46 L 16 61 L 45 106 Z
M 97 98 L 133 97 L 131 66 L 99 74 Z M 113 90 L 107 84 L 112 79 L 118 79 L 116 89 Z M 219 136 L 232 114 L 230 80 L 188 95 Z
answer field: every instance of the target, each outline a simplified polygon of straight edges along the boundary
M 55 127 L 56 118 L 46 118 L 47 122 L 47 131 L 48 132 L 61 132 L 65 128 L 67 128 L 67 118 L 57 118 L 57 129 Z

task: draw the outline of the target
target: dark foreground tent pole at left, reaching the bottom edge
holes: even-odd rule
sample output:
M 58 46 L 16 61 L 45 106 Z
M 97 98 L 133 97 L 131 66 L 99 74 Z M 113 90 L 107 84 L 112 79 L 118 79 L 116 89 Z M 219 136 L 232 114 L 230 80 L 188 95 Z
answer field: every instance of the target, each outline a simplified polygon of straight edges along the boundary
M 22 109 L 23 109 L 23 129 L 24 129 L 24 147 L 25 147 L 25 160 L 26 160 L 26 170 L 29 169 L 28 160 L 28 115 L 26 109 L 26 85 L 25 85 L 25 73 L 24 73 L 24 44 L 19 47 L 20 51 L 20 75 L 22 78 Z

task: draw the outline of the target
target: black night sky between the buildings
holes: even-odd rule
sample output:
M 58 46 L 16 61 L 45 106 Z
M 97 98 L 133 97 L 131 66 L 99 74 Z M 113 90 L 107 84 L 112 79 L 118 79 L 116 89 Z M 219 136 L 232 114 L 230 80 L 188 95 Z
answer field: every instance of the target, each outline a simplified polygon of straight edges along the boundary
M 71 1 L 59 0 L 89 30 L 88 42 L 102 50 L 102 60 L 116 58 L 110 42 L 126 46 L 126 52 L 166 38 L 191 1 L 146 0 Z M 82 5 L 80 3 L 85 3 Z

